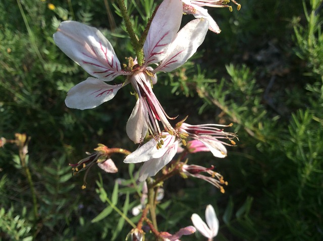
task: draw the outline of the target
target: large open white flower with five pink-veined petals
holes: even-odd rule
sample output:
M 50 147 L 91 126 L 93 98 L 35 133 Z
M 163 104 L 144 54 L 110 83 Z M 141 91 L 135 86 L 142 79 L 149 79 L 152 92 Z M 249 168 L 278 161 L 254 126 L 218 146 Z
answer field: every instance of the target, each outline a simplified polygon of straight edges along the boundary
M 68 92 L 66 105 L 77 109 L 94 108 L 114 98 L 119 89 L 131 83 L 138 100 L 126 127 L 129 138 L 140 143 L 148 131 L 153 136 L 160 134 L 158 122 L 165 129 L 172 130 L 168 115 L 152 92 L 151 83 L 156 82 L 156 72 L 170 72 L 183 65 L 203 42 L 208 29 L 208 22 L 199 19 L 178 31 L 182 13 L 181 0 L 161 3 L 143 45 L 145 63 L 133 66 L 129 71 L 121 69 L 111 43 L 99 30 L 74 21 L 62 22 L 53 35 L 55 43 L 94 77 L 74 86 Z M 157 66 L 155 69 L 150 66 L 153 64 Z M 120 75 L 127 77 L 125 83 L 105 83 Z

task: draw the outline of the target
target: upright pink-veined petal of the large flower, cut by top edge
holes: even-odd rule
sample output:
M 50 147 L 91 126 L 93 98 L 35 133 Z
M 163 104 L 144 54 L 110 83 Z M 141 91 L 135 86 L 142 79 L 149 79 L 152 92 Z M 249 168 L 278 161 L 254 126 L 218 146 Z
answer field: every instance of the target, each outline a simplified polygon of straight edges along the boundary
M 180 28 L 183 15 L 181 0 L 164 0 L 153 17 L 143 45 L 146 65 L 160 62 Z

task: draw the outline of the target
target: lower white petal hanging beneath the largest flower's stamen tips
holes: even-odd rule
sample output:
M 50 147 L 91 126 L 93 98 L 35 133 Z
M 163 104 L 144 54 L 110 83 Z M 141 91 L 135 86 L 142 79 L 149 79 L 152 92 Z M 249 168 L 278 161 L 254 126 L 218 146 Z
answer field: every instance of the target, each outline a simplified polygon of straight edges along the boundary
M 154 176 L 159 170 L 166 166 L 175 156 L 177 147 L 178 142 L 175 142 L 162 157 L 146 161 L 140 169 L 139 182 L 143 182 L 148 176 Z

